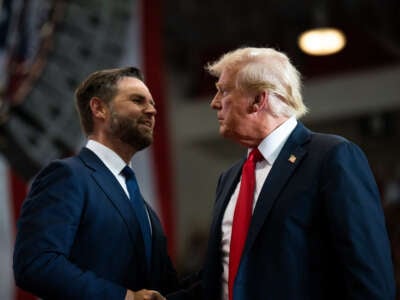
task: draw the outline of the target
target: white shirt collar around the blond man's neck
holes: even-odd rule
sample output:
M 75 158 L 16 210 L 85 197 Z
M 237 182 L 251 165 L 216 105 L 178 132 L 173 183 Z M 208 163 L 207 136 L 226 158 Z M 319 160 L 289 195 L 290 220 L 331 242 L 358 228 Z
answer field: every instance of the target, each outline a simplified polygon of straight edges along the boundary
M 289 135 L 292 133 L 296 125 L 296 118 L 294 116 L 290 117 L 268 136 L 266 136 L 258 145 L 258 150 L 270 165 L 275 162 L 283 148 L 283 145 L 289 138 Z

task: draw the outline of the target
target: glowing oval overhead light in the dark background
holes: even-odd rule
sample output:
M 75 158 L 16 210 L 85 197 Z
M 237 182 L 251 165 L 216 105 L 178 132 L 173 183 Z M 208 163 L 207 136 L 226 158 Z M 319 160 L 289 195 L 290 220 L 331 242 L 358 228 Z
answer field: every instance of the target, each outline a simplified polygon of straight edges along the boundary
M 310 55 L 330 55 L 346 45 L 346 36 L 336 28 L 324 27 L 303 32 L 298 40 L 300 49 Z

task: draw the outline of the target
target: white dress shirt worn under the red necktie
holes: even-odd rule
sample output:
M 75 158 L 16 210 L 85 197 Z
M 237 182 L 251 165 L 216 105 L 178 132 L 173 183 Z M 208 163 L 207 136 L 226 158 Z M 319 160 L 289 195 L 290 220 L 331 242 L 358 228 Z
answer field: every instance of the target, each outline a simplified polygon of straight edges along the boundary
M 271 132 L 262 142 L 258 145 L 258 150 L 261 152 L 265 160 L 257 162 L 255 177 L 256 186 L 254 190 L 254 200 L 253 200 L 253 211 L 257 204 L 258 196 L 260 195 L 261 188 L 264 185 L 265 180 L 272 168 L 276 158 L 281 152 L 283 145 L 288 139 L 289 135 L 292 133 L 293 129 L 297 125 L 297 120 L 295 117 L 291 117 Z M 247 155 L 252 149 L 248 149 Z M 228 300 L 228 274 L 229 274 L 229 249 L 231 243 L 231 232 L 232 232 L 232 222 L 233 214 L 235 211 L 236 201 L 239 195 L 240 183 L 236 186 L 231 199 L 225 209 L 224 217 L 222 219 L 222 239 L 221 239 L 221 250 L 222 250 L 222 299 Z

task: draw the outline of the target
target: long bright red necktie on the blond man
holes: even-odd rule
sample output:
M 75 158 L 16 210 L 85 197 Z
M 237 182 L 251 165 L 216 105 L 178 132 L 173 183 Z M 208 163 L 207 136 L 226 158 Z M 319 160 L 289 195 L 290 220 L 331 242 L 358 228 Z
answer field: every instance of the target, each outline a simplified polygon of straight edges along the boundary
M 229 300 L 233 300 L 233 286 L 253 212 L 254 188 L 256 183 L 255 166 L 256 162 L 263 159 L 260 151 L 255 148 L 250 152 L 242 169 L 242 180 L 233 216 L 229 250 Z

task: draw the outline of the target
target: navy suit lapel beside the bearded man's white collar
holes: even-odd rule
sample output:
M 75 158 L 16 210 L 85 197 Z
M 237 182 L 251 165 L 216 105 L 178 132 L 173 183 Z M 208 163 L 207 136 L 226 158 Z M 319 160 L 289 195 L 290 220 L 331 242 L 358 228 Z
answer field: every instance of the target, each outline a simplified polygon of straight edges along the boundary
M 99 188 L 107 195 L 116 210 L 121 215 L 128 227 L 133 243 L 137 242 L 136 237 L 140 232 L 135 213 L 128 197 L 124 193 L 120 183 L 101 160 L 89 149 L 83 148 L 79 153 L 81 160 L 93 170 L 91 174 L 93 180 Z

